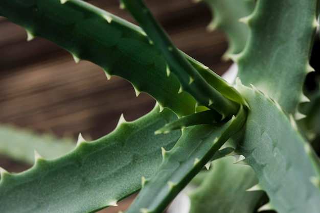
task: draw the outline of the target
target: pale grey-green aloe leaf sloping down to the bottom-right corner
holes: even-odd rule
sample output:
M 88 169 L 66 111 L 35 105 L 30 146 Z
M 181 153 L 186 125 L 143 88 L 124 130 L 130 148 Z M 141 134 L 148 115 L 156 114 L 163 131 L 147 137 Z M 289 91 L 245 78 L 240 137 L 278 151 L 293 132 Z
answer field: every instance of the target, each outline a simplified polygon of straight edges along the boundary
M 319 159 L 292 115 L 288 116 L 277 102 L 255 87 L 239 84 L 238 90 L 251 110 L 236 152 L 254 169 L 259 179 L 256 188 L 264 190 L 270 199 L 260 210 L 319 212 Z

